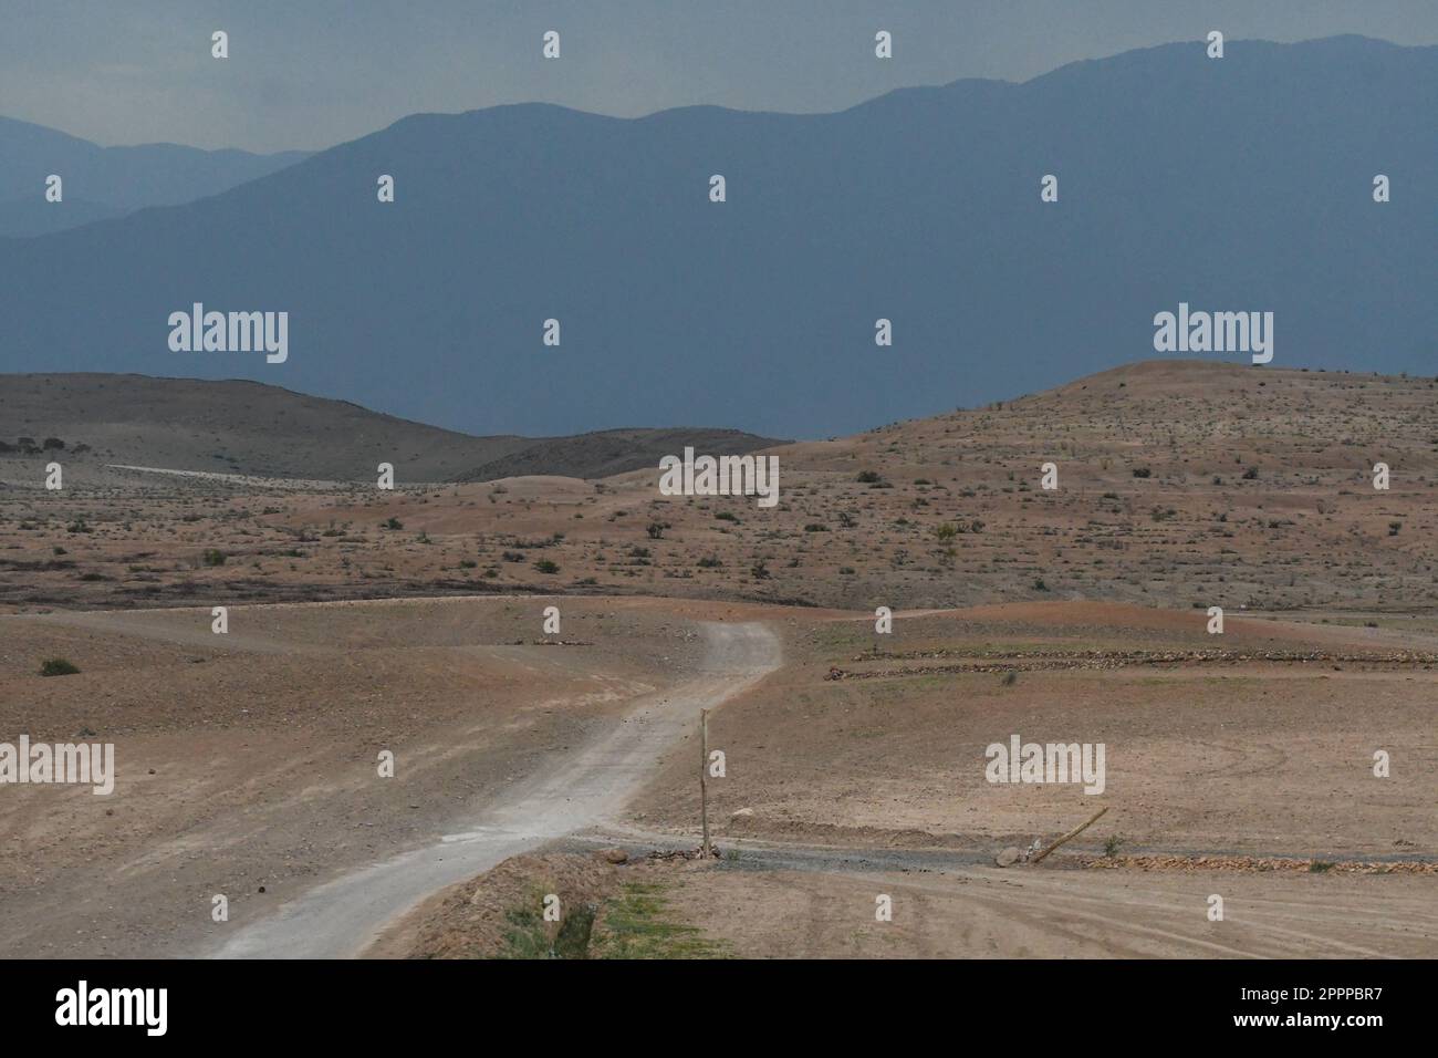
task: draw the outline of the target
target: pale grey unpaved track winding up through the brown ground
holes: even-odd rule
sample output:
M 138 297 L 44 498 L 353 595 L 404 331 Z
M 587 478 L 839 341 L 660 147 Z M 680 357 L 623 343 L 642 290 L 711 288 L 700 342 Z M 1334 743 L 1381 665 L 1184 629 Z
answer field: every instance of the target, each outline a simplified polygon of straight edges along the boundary
M 638 700 L 611 733 L 515 785 L 463 833 L 347 874 L 242 927 L 221 959 L 345 959 L 430 894 L 554 838 L 605 820 L 664 753 L 713 708 L 779 665 L 778 638 L 758 623 L 705 623 L 699 674 Z

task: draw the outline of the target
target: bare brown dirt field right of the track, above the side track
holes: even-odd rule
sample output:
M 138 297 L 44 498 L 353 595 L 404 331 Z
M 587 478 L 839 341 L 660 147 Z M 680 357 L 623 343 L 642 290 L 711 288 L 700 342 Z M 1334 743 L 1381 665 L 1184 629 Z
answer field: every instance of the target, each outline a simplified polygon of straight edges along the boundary
M 1209 636 L 1205 625 L 1202 612 L 1045 603 L 912 620 L 900 612 L 890 636 L 876 636 L 871 620 L 791 629 L 784 672 L 710 723 L 728 766 L 710 783 L 718 833 L 997 849 L 1057 836 L 1107 805 L 1078 848 L 1113 836 L 1135 851 L 1432 856 L 1438 666 L 1173 664 L 1021 671 L 1005 685 L 998 674 L 923 674 L 942 662 L 922 658 L 854 661 L 880 639 L 893 652 L 943 648 L 1020 664 L 1051 649 L 1383 651 L 1370 629 L 1234 619 Z M 1392 646 L 1409 649 L 1406 638 Z M 916 674 L 827 681 L 835 665 Z M 1012 734 L 1104 743 L 1103 793 L 988 783 L 986 747 Z M 1372 773 L 1380 749 L 1392 759 L 1388 779 Z M 695 787 L 692 763 L 672 760 L 631 820 L 692 832 Z

